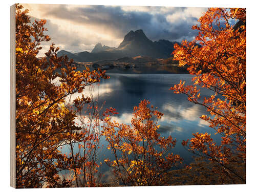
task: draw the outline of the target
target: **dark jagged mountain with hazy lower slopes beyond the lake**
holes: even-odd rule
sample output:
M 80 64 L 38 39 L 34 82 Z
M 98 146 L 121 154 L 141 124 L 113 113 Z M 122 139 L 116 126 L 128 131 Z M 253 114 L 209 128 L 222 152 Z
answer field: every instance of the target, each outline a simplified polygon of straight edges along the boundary
M 59 51 L 58 56 L 65 55 L 74 61 L 97 61 L 104 59 L 117 59 L 121 57 L 148 56 L 153 58 L 168 58 L 172 56 L 174 44 L 168 40 L 152 41 L 147 38 L 143 30 L 130 31 L 124 36 L 117 48 L 95 45 L 92 52 L 71 53 L 65 50 Z

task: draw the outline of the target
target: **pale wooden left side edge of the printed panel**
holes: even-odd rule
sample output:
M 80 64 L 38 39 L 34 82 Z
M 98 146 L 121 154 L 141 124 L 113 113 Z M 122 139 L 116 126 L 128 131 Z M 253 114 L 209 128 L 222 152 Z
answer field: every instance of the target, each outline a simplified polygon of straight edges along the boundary
M 16 13 L 16 7 L 15 4 L 11 6 L 11 179 L 10 179 L 10 183 L 11 183 L 11 187 L 16 188 L 16 137 L 15 137 L 15 114 L 16 114 L 16 110 L 15 110 L 15 105 L 16 105 L 16 89 L 15 89 L 15 85 L 16 85 L 16 81 L 15 81 L 15 13 Z

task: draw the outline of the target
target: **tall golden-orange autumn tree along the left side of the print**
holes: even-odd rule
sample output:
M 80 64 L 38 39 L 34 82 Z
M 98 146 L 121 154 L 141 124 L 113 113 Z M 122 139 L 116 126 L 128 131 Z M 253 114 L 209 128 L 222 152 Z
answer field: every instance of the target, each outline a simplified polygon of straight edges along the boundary
M 76 71 L 72 59 L 57 56 L 54 44 L 39 59 L 41 42 L 50 40 L 45 24 L 46 20 L 31 23 L 28 10 L 16 5 L 17 188 L 71 186 L 70 180 L 58 175 L 67 169 L 59 148 L 73 130 L 82 128 L 75 125 L 76 111 L 65 106 L 65 99 L 107 78 L 102 71 Z

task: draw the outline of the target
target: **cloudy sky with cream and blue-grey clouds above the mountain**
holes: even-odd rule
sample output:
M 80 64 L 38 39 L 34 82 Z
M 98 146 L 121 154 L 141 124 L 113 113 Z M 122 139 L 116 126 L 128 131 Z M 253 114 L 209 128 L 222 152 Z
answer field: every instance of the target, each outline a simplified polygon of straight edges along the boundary
M 125 34 L 142 29 L 151 40 L 191 40 L 191 26 L 206 8 L 23 4 L 31 20 L 46 19 L 51 41 L 72 53 L 102 45 L 118 47 Z M 48 49 L 45 46 L 38 56 Z

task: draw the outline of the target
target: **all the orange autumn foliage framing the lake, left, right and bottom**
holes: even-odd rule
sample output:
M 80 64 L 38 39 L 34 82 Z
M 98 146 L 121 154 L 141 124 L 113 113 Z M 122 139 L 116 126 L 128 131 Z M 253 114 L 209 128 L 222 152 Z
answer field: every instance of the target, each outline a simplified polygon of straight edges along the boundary
M 211 164 L 200 161 L 180 170 L 172 170 L 182 161 L 170 152 L 176 139 L 160 137 L 158 120 L 163 114 L 148 106 L 149 101 L 134 107 L 131 125 L 112 121 L 113 108 L 101 119 L 102 106 L 92 94 L 70 103 L 73 94 L 108 77 L 101 70 L 77 71 L 72 59 L 57 56 L 54 44 L 46 57 L 38 58 L 41 42 L 50 40 L 45 35 L 46 20 L 31 23 L 28 10 L 22 9 L 16 5 L 17 188 L 100 186 L 102 137 L 114 154 L 113 161 L 105 162 L 121 185 L 245 183 L 245 9 L 208 9 L 199 19 L 200 26 L 193 27 L 199 31 L 195 40 L 175 45 L 175 59 L 194 75 L 195 84 L 185 86 L 181 81 L 171 89 L 205 106 L 212 116 L 201 118 L 222 136 L 220 144 L 208 133 L 195 133 L 190 141 L 183 141 L 187 150 Z M 239 22 L 232 27 L 230 19 Z M 201 99 L 198 87 L 214 94 Z M 61 152 L 62 147 L 70 154 Z M 68 176 L 62 174 L 66 171 Z

